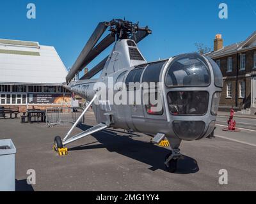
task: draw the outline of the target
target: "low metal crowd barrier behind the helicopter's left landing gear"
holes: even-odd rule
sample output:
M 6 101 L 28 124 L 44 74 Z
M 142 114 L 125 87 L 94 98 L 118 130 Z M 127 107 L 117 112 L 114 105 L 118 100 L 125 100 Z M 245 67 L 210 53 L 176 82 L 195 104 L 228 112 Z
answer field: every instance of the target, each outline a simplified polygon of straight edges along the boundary
M 46 124 L 47 127 L 53 127 L 59 124 L 74 123 L 83 113 L 84 108 L 47 108 L 46 109 Z M 84 117 L 80 122 L 84 122 Z

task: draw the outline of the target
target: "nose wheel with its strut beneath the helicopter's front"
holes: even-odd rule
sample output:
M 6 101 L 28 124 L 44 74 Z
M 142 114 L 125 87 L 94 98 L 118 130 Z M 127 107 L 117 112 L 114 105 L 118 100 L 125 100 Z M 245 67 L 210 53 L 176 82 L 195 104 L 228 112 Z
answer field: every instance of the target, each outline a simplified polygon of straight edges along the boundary
M 171 152 L 167 154 L 164 159 L 164 165 L 166 167 L 166 170 L 174 173 L 177 170 L 177 163 L 181 156 L 182 154 L 180 154 L 179 149 L 172 149 Z

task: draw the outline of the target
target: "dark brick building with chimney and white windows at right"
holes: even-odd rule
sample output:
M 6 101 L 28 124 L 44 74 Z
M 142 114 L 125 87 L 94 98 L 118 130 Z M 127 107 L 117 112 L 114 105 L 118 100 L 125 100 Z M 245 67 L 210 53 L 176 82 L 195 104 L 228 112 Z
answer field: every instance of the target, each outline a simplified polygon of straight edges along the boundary
M 256 31 L 246 40 L 223 47 L 221 34 L 214 40 L 214 51 L 206 54 L 220 66 L 223 92 L 220 108 L 250 108 L 256 112 Z

